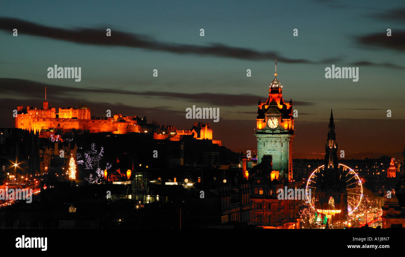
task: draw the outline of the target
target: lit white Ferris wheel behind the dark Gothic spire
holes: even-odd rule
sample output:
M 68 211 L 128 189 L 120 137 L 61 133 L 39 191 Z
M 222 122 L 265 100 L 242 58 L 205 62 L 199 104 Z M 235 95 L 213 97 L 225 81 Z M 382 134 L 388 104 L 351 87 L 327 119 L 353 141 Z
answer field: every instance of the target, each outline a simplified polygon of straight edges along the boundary
M 324 166 L 325 165 L 319 166 L 311 173 L 311 175 L 309 175 L 307 185 L 305 187 L 305 192 L 308 199 L 315 199 L 316 179 L 317 176 L 320 175 L 320 170 L 324 169 Z M 351 215 L 355 210 L 357 210 L 363 198 L 363 185 L 358 174 L 353 169 L 344 164 L 339 164 L 338 168 L 341 166 L 346 174 L 347 213 Z M 309 191 L 309 189 L 311 189 L 311 191 Z M 309 195 L 309 192 L 311 192 L 311 195 Z M 315 210 L 315 202 L 311 201 L 311 207 Z

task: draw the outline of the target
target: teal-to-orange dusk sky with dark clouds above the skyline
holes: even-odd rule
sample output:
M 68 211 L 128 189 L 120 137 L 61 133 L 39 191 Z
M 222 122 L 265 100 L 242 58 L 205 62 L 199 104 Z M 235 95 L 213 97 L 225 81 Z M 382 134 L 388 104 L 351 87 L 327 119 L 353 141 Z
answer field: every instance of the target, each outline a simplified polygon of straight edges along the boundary
M 0 127 L 14 127 L 19 105 L 42 108 L 46 86 L 57 109 L 81 100 L 96 117 L 109 109 L 178 130 L 209 122 L 222 145 L 256 150 L 257 102 L 277 58 L 298 110 L 294 152 L 324 152 L 331 108 L 339 150 L 402 152 L 404 21 L 401 1 L 4 1 Z M 81 82 L 48 79 L 55 64 L 81 67 Z M 326 79 L 333 64 L 359 67 L 358 82 Z M 185 119 L 193 105 L 220 108 L 220 121 Z

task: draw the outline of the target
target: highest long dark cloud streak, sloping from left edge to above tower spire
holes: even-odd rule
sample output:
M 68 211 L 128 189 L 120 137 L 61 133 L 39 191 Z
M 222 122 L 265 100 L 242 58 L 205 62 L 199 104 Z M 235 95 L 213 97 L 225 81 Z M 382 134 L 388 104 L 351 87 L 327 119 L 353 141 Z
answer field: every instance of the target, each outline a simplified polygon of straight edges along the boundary
M 106 36 L 106 29 L 78 28 L 69 30 L 39 25 L 21 19 L 0 18 L 0 30 L 5 30 L 11 33 L 14 28 L 17 28 L 18 32 L 22 34 L 42 36 L 88 45 L 133 47 L 176 54 L 195 54 L 200 56 L 211 55 L 245 60 L 274 60 L 277 57 L 280 62 L 296 64 L 324 63 L 324 61 L 314 62 L 308 59 L 291 59 L 283 57 L 275 51 L 262 52 L 243 47 L 231 47 L 218 43 L 211 43 L 208 46 L 175 44 L 160 42 L 142 34 L 131 34 L 118 30 L 112 30 L 111 36 Z

